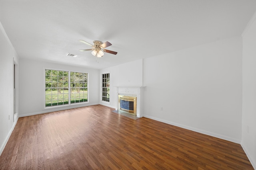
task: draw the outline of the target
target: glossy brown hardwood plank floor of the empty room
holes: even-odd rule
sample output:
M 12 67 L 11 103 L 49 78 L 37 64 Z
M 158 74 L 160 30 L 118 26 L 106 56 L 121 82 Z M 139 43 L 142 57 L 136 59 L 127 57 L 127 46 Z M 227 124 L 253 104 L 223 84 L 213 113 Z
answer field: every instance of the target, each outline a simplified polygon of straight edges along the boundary
M 239 144 L 96 105 L 21 117 L 1 170 L 253 170 Z

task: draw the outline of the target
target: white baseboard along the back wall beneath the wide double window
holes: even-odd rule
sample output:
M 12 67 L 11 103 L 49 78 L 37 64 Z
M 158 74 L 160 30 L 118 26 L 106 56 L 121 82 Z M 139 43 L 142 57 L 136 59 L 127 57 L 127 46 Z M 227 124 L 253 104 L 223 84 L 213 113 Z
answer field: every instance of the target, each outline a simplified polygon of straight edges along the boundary
M 72 105 L 72 106 L 66 106 L 66 107 L 55 107 L 55 108 L 47 108 L 44 111 L 39 111 L 39 112 L 34 112 L 34 113 L 28 113 L 28 114 L 23 114 L 23 115 L 19 115 L 19 117 L 26 117 L 26 116 L 32 116 L 32 115 L 39 115 L 39 114 L 44 114 L 44 113 L 50 113 L 50 112 L 54 112 L 54 111 L 61 111 L 61 110 L 68 110 L 68 109 L 75 109 L 75 108 L 79 108 L 79 107 L 86 107 L 86 106 L 93 106 L 93 105 L 97 105 L 99 103 L 95 103 L 95 104 L 86 104 L 86 105 Z

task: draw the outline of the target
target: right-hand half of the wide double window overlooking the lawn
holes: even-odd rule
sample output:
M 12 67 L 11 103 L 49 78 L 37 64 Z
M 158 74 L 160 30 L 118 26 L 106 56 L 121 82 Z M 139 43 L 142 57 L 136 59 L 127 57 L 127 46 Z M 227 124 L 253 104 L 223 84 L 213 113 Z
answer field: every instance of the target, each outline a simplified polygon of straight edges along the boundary
M 70 102 L 87 102 L 87 77 L 88 73 L 70 72 Z

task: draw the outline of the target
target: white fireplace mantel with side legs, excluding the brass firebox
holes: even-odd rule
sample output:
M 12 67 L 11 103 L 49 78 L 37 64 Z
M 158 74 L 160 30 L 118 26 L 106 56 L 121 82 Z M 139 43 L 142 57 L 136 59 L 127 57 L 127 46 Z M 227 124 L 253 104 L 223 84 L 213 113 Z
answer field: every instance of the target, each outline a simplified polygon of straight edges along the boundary
M 146 86 L 115 86 L 116 87 L 116 110 L 120 109 L 118 94 L 132 95 L 137 97 L 137 117 L 143 117 L 143 93 Z

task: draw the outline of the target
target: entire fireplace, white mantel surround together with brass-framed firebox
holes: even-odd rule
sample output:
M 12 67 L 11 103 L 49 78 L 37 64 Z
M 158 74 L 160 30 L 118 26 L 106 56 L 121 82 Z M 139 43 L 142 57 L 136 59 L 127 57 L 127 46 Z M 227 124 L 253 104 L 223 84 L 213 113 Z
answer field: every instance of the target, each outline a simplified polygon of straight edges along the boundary
M 145 86 L 116 86 L 116 110 L 143 117 Z

